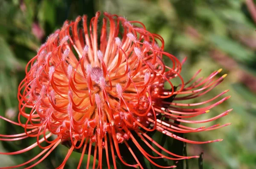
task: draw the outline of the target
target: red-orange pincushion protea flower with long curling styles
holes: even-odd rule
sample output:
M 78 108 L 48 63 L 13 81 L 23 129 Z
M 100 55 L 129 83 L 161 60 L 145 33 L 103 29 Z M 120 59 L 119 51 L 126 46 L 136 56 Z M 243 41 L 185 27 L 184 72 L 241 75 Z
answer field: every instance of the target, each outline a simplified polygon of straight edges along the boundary
M 172 54 L 163 51 L 164 40 L 160 35 L 148 32 L 143 23 L 127 21 L 108 13 L 104 13 L 102 27 L 99 28 L 99 17 L 100 13 L 97 12 L 90 20 L 89 29 L 85 15 L 77 17 L 74 22 L 66 21 L 61 29 L 49 36 L 38 54 L 27 64 L 26 77 L 18 89 L 19 123 L 1 117 L 23 127 L 25 132 L 0 135 L 0 140 L 15 141 L 35 137 L 36 142 L 26 149 L 0 154 L 21 154 L 36 146 L 42 152 L 25 163 L 1 169 L 24 166 L 43 156 L 27 167 L 32 168 L 56 146 L 66 141 L 71 146 L 58 169 L 64 168 L 75 149 L 82 149 L 78 168 L 85 153 L 88 154 L 87 168 L 90 158 L 93 158 L 93 168 L 96 167 L 96 160 L 97 168 L 102 168 L 103 155 L 108 168 L 112 163 L 116 169 L 116 156 L 126 166 L 143 168 L 127 140 L 131 140 L 155 166 L 173 168 L 175 166 L 161 166 L 152 159 L 180 160 L 198 156 L 175 155 L 153 140 L 148 133 L 157 131 L 193 144 L 221 141 L 192 141 L 178 137 L 173 132 L 202 132 L 229 125 L 192 128 L 180 124 L 206 123 L 227 115 L 231 110 L 207 120 L 189 120 L 227 100 L 229 96 L 204 106 L 227 91 L 201 103 L 178 103 L 179 100 L 190 100 L 206 94 L 221 83 L 226 75 L 215 78 L 221 72 L 218 70 L 206 78 L 194 80 L 198 71 L 191 80 L 184 83 L 180 76 L 183 62 L 180 63 Z M 171 61 L 171 66 L 165 65 L 164 57 Z M 173 78 L 180 80 L 177 89 L 171 82 Z M 169 83 L 171 88 L 166 89 L 165 83 Z M 168 100 L 171 97 L 172 100 Z M 199 105 L 202 107 L 194 108 Z M 26 123 L 22 123 L 21 118 L 25 118 Z M 49 140 L 52 135 L 56 135 L 55 139 Z M 148 154 L 134 135 L 140 137 L 157 156 Z M 43 142 L 48 143 L 48 146 L 42 146 Z M 119 150 L 121 144 L 127 146 L 136 164 L 125 162 Z M 152 145 L 172 155 L 172 158 L 164 156 Z

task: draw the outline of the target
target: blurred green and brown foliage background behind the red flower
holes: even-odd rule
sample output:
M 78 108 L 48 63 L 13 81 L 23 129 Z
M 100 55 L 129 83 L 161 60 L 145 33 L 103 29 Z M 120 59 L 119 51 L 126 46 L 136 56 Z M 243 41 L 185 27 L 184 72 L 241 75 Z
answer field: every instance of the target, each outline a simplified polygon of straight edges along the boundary
M 204 151 L 204 169 L 256 169 L 255 3 L 255 0 L 0 0 L 0 115 L 17 119 L 17 86 L 25 76 L 26 63 L 50 33 L 67 19 L 74 20 L 83 14 L 91 18 L 96 11 L 108 11 L 144 23 L 150 32 L 164 38 L 167 52 L 180 60 L 188 57 L 182 72 L 186 80 L 198 69 L 203 69 L 200 75 L 206 77 L 223 68 L 221 74 L 228 76 L 202 100 L 226 89 L 230 89 L 228 95 L 232 97 L 200 118 L 233 108 L 228 116 L 214 122 L 232 125 L 186 135 L 201 141 L 224 139 L 204 145 L 188 144 L 187 153 L 199 155 Z M 22 129 L 0 120 L 0 131 L 11 134 Z M 17 151 L 34 142 L 35 139 L 1 142 L 0 152 Z M 38 152 L 39 148 L 22 155 L 0 155 L 0 166 L 23 163 Z M 34 168 L 54 168 L 66 152 L 65 146 L 58 146 Z M 66 168 L 76 168 L 79 158 L 79 153 L 73 153 Z M 190 159 L 187 164 L 186 169 L 199 169 L 197 159 Z

